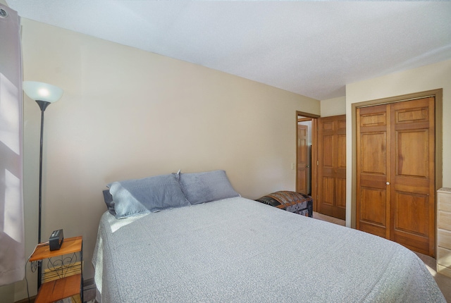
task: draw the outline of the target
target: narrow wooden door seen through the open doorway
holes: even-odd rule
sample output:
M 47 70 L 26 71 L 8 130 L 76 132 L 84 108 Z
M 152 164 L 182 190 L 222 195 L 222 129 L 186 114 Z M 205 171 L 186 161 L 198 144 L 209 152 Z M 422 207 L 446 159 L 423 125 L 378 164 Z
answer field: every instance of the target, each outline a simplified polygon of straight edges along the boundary
M 296 175 L 296 191 L 302 194 L 309 194 L 308 192 L 308 175 L 307 166 L 308 159 L 308 132 L 307 125 L 297 125 L 297 175 Z

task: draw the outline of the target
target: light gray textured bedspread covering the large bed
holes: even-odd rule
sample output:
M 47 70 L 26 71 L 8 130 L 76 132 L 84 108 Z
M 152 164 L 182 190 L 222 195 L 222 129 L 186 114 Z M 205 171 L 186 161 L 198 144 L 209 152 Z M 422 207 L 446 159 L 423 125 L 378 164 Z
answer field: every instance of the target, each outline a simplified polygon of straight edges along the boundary
M 445 302 L 381 237 L 242 197 L 117 220 L 92 260 L 101 302 Z

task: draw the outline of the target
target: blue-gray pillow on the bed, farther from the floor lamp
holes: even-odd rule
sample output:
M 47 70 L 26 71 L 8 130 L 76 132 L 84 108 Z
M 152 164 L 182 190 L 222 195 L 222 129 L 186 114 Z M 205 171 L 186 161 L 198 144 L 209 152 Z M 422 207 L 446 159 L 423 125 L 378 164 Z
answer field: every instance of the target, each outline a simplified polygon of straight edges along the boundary
M 204 173 L 175 173 L 182 191 L 191 204 L 200 204 L 231 197 L 240 197 L 235 192 L 225 171 Z

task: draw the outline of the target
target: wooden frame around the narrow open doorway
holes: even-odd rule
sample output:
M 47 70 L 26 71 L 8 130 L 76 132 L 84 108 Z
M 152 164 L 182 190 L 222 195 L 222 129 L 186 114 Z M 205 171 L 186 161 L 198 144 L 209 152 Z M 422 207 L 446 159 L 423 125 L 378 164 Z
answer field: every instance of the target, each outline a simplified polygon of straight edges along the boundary
M 321 116 L 315 115 L 314 113 L 305 113 L 304 111 L 296 111 L 296 180 L 295 180 L 295 188 L 297 185 L 297 140 L 299 139 L 297 137 L 297 122 L 299 122 L 298 117 L 302 116 L 305 117 L 305 119 L 302 120 L 311 120 L 311 197 L 314 197 L 313 199 L 313 210 L 316 211 L 316 184 L 317 184 L 317 167 L 316 167 L 316 161 L 317 161 L 317 134 L 316 130 L 318 128 L 318 124 L 316 121 L 316 118 L 319 118 Z

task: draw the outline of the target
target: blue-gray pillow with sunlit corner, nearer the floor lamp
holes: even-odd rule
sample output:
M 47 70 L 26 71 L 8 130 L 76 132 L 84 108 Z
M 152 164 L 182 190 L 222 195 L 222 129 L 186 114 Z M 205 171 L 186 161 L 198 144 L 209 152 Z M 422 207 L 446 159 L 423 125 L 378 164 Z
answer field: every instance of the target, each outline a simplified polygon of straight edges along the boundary
M 113 196 L 116 218 L 190 205 L 173 174 L 124 180 L 106 186 Z

